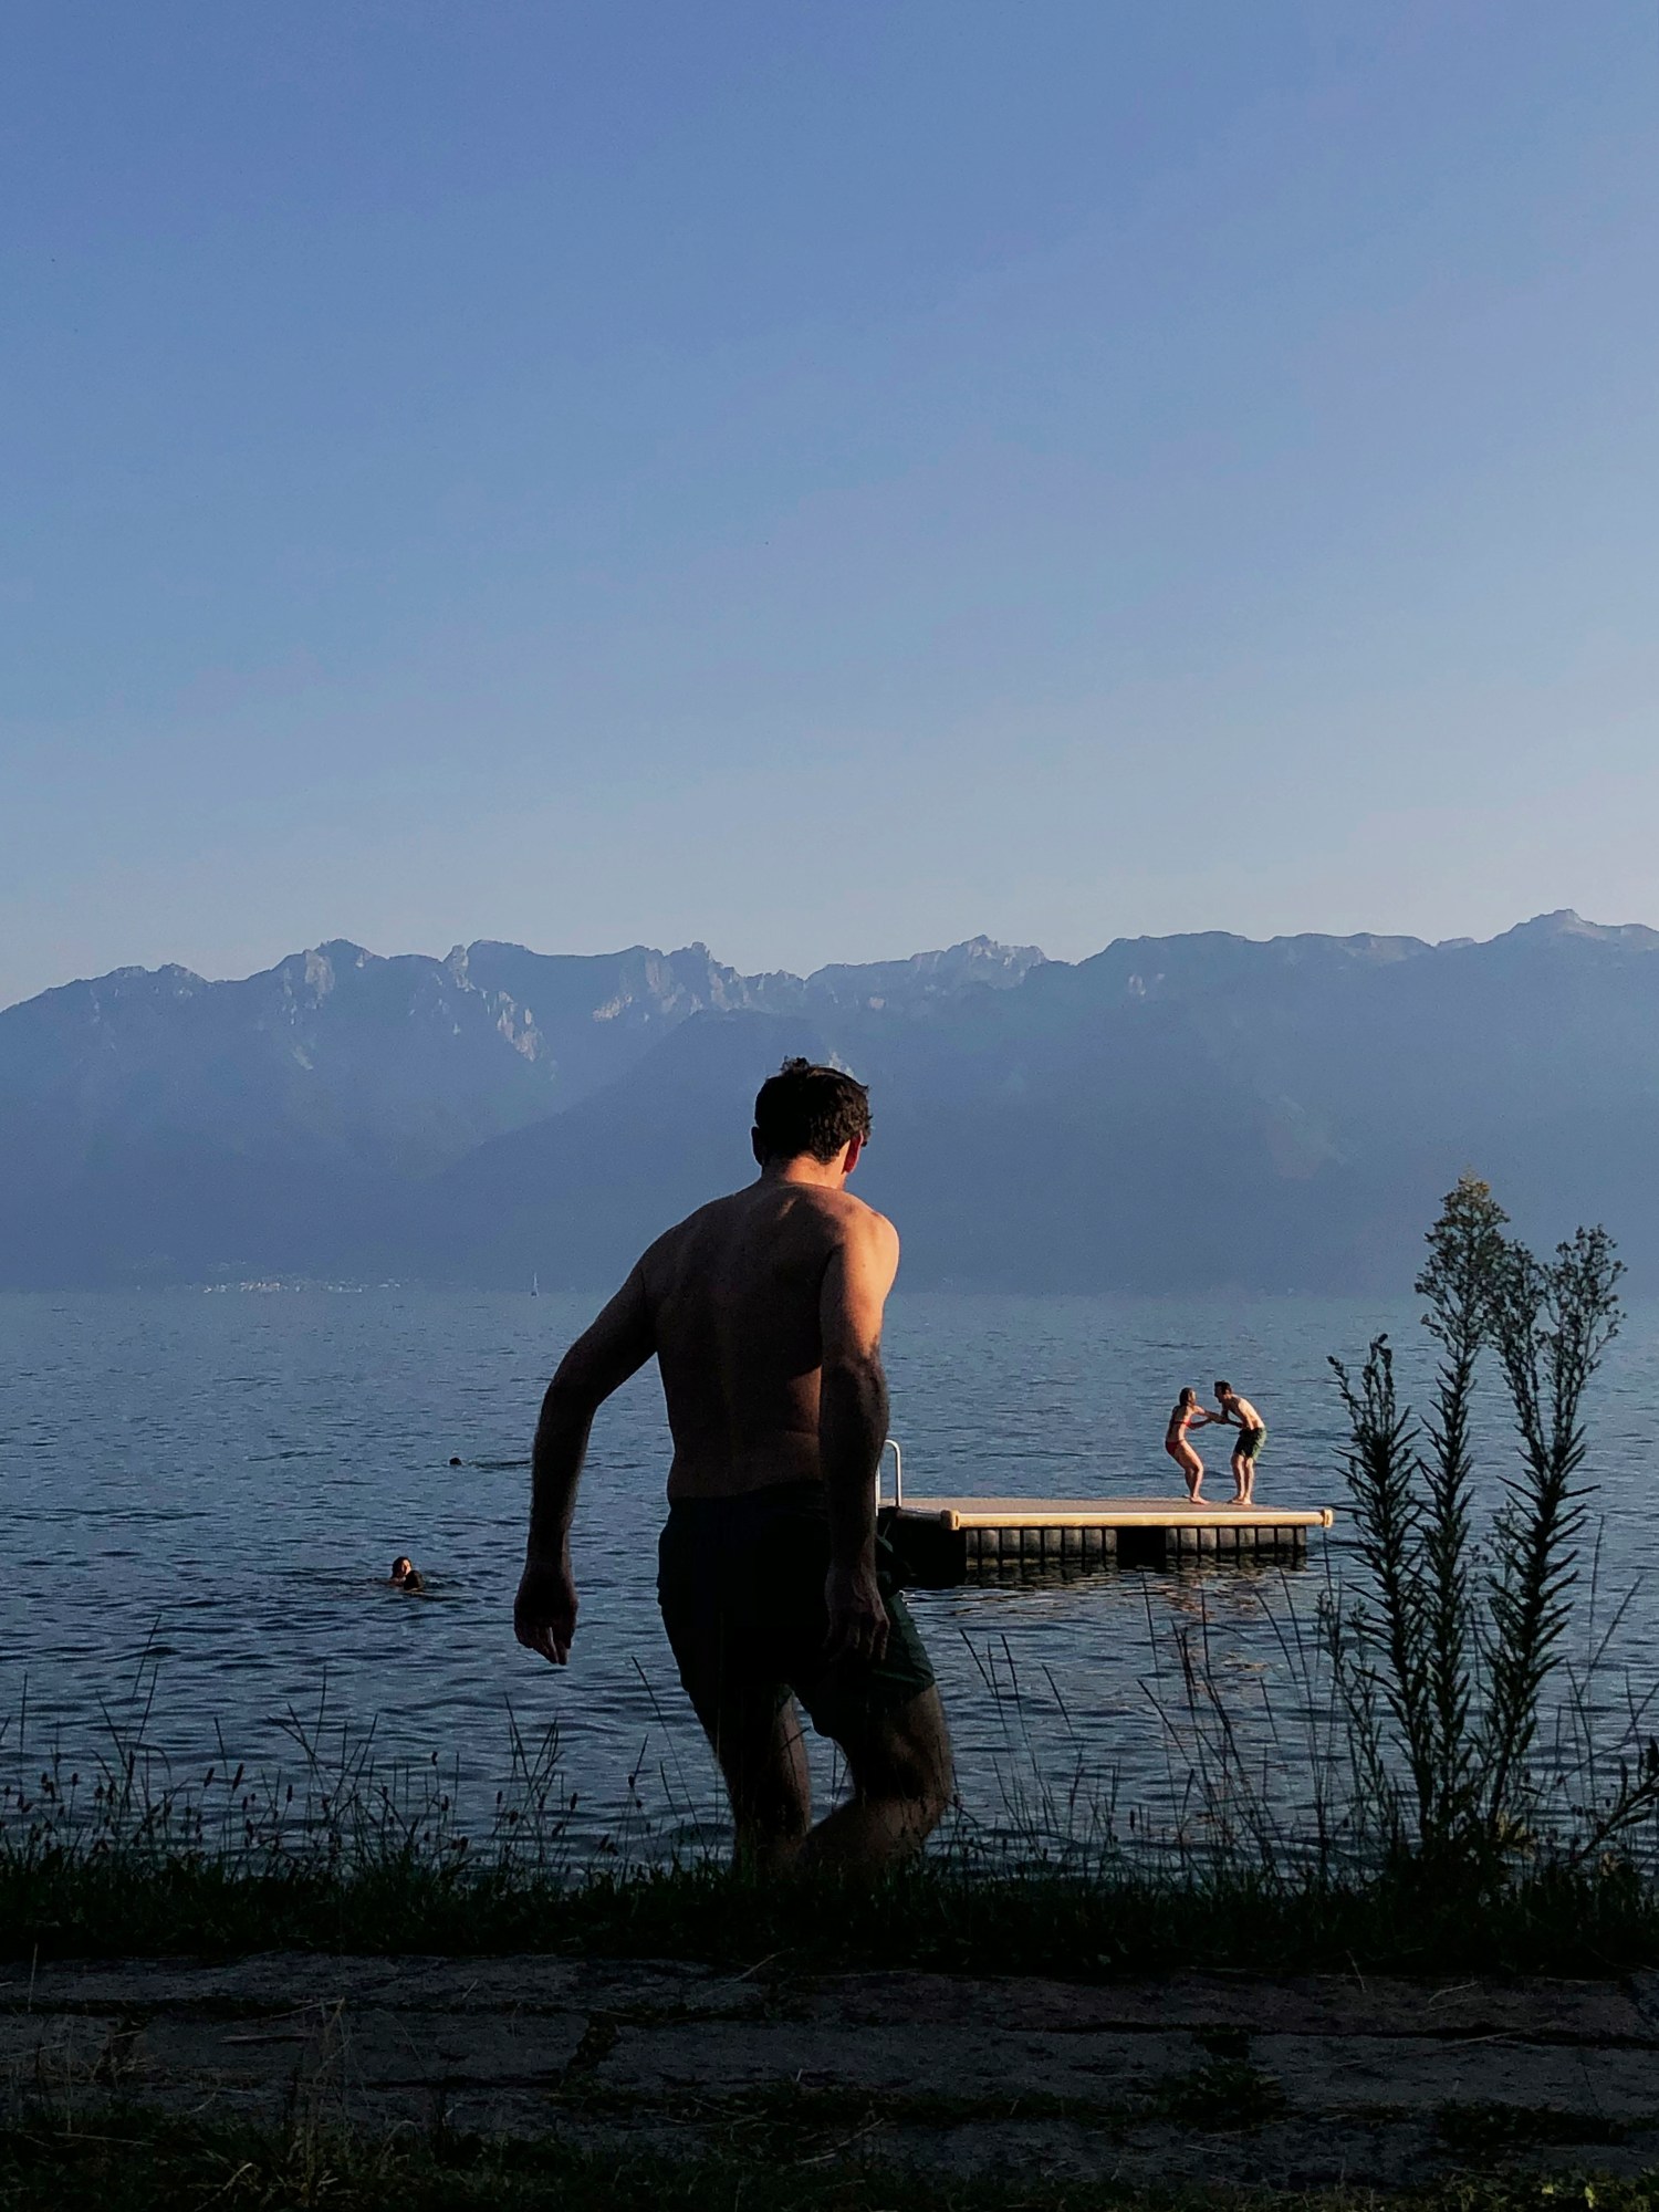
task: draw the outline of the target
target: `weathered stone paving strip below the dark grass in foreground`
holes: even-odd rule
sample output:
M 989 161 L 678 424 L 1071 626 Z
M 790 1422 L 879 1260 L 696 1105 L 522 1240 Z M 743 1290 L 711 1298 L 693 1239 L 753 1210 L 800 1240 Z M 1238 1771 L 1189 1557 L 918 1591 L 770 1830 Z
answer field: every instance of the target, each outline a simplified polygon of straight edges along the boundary
M 1659 2168 L 1659 1975 L 1068 1984 L 564 1958 L 13 1966 L 9 2115 L 150 2106 L 933 2172 Z

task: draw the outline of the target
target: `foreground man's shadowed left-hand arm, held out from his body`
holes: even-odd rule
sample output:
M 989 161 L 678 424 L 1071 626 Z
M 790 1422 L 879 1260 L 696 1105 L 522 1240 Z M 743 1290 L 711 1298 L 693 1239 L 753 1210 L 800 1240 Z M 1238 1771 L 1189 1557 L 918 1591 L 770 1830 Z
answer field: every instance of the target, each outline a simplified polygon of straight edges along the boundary
M 650 1303 L 635 1267 L 593 1327 L 564 1354 L 542 1398 L 531 1449 L 531 1540 L 513 1604 L 513 1632 L 555 1666 L 571 1657 L 575 1635 L 571 1515 L 593 1416 L 655 1349 Z

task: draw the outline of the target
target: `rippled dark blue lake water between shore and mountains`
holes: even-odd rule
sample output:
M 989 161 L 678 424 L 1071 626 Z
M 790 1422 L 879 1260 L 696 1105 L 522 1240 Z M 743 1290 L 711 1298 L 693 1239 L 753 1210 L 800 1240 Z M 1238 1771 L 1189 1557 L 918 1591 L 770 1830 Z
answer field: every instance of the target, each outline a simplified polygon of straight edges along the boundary
M 721 1798 L 655 1606 L 668 1467 L 655 1369 L 595 1427 L 571 1668 L 513 1641 L 529 1475 L 502 1462 L 526 1453 L 546 1376 L 591 1310 L 394 1287 L 0 1294 L 0 1712 L 20 1712 L 27 1679 L 29 1743 L 58 1734 L 86 1756 L 148 1650 L 148 1739 L 181 1770 L 219 1741 L 292 1770 L 283 1721 L 310 1723 L 325 1701 L 332 1723 L 374 1725 L 376 1756 L 436 1750 L 462 1796 L 487 1805 L 511 1701 L 522 1730 L 557 1723 L 580 1847 L 639 1849 L 646 1829 L 653 1847 L 719 1836 Z M 1161 1451 L 1168 1405 L 1179 1385 L 1208 1391 L 1225 1374 L 1267 1418 L 1259 1498 L 1340 1513 L 1325 1363 L 1358 1363 L 1376 1329 L 1420 1391 L 1429 1347 L 1411 1305 L 900 1292 L 887 1365 L 907 1484 L 1179 1493 Z M 1659 1648 L 1659 1307 L 1630 1312 L 1590 1411 L 1601 1619 L 1635 1588 L 1595 1686 L 1617 1730 L 1628 1681 L 1648 1692 Z M 451 1453 L 467 1464 L 451 1469 Z M 1223 1453 L 1206 1460 L 1225 1495 Z M 400 1551 L 429 1597 L 378 1586 Z M 1208 1564 L 916 1593 L 969 1827 L 1168 1823 L 1192 1750 L 1181 1637 L 1203 1648 L 1267 1792 L 1294 1807 L 1318 1734 L 1294 1650 L 1343 1562 L 1338 1520 L 1303 1571 Z M 823 1752 L 816 1772 L 830 1790 Z

